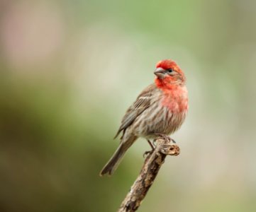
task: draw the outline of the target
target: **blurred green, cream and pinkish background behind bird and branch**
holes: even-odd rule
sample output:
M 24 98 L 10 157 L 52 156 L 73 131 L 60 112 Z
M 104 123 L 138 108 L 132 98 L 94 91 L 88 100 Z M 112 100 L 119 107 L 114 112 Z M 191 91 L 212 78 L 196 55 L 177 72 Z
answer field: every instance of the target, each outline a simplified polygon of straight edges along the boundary
M 0 1 L 0 211 L 116 211 L 140 139 L 99 171 L 127 107 L 174 59 L 189 114 L 139 211 L 256 211 L 256 1 Z

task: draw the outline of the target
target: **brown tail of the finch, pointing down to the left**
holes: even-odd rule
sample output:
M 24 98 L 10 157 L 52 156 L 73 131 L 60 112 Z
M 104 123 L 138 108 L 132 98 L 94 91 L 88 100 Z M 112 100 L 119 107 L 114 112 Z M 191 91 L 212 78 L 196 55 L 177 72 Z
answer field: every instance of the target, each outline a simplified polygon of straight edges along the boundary
M 130 141 L 120 143 L 116 152 L 113 153 L 112 158 L 110 158 L 110 160 L 108 160 L 108 163 L 106 163 L 106 165 L 101 170 L 101 172 L 99 174 L 100 176 L 113 174 L 113 172 L 116 170 L 119 163 L 123 159 L 123 156 L 125 155 L 126 151 L 133 144 L 133 141 L 135 141 L 135 139 L 137 139 L 137 137 L 133 138 L 132 141 L 129 139 Z

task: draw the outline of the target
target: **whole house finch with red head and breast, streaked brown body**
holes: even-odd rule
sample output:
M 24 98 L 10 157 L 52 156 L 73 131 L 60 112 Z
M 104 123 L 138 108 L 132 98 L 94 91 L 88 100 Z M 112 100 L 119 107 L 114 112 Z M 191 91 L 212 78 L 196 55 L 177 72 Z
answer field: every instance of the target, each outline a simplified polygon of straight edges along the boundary
M 155 83 L 145 88 L 124 115 L 115 138 L 122 132 L 121 143 L 100 175 L 112 175 L 128 148 L 143 137 L 148 140 L 169 135 L 179 129 L 188 110 L 186 78 L 171 59 L 159 61 Z

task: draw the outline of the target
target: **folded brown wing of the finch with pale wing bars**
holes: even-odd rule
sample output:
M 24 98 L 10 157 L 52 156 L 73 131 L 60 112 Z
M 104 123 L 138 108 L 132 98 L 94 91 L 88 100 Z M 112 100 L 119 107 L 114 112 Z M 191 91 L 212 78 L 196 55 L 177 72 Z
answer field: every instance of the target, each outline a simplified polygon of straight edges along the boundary
M 154 90 L 156 89 L 155 84 L 151 84 L 147 88 L 145 88 L 140 95 L 138 95 L 138 98 L 133 102 L 133 105 L 131 105 L 128 110 L 126 111 L 126 114 L 124 115 L 121 126 L 117 131 L 117 134 L 115 136 L 118 136 L 118 134 L 121 133 L 121 131 L 125 131 L 128 126 L 133 124 L 135 119 L 150 106 L 150 102 L 152 100 L 152 95 L 154 93 Z

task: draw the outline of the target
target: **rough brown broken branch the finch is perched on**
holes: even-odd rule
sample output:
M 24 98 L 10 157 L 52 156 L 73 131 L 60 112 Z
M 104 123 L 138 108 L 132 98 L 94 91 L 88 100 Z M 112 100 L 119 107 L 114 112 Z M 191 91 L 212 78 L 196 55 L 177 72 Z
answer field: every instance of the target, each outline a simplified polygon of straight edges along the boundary
M 145 159 L 140 175 L 138 175 L 133 186 L 130 188 L 118 212 L 137 211 L 155 177 L 157 177 L 161 165 L 165 162 L 165 157 L 167 155 L 179 155 L 179 146 L 173 143 L 172 139 L 168 137 L 166 139 L 160 138 L 157 139 L 156 143 L 155 150 Z

